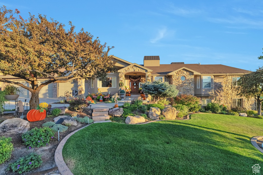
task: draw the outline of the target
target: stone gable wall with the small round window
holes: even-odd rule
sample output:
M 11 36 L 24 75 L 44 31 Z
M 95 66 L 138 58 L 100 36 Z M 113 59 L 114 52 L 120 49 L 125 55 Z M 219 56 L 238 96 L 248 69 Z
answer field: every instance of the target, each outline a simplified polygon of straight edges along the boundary
M 185 81 L 181 80 L 181 76 L 185 76 Z M 185 69 L 175 72 L 174 75 L 169 77 L 170 84 L 176 85 L 179 90 L 179 94 L 194 95 L 194 75 L 193 72 L 187 71 Z

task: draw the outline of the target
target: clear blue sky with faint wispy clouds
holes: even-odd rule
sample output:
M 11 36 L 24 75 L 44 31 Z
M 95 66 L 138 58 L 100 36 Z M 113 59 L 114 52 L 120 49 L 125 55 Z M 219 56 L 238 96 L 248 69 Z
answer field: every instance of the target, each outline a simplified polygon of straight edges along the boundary
M 3 1 L 81 28 L 115 48 L 117 57 L 143 64 L 224 64 L 246 70 L 263 66 L 263 1 Z

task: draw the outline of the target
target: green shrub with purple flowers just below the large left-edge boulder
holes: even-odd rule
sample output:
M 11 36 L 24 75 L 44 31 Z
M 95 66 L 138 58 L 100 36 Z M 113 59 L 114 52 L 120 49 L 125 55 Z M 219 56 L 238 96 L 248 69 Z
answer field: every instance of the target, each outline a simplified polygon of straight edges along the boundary
M 24 145 L 29 147 L 47 146 L 51 137 L 54 136 L 54 131 L 51 128 L 33 128 L 22 134 Z

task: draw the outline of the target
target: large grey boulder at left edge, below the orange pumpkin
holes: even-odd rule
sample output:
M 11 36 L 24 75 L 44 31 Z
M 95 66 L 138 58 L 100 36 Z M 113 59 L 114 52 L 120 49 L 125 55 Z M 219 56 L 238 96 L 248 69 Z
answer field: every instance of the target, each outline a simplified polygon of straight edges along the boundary
M 29 122 L 21 118 L 13 118 L 4 120 L 0 124 L 0 134 L 17 134 L 24 133 L 29 130 Z

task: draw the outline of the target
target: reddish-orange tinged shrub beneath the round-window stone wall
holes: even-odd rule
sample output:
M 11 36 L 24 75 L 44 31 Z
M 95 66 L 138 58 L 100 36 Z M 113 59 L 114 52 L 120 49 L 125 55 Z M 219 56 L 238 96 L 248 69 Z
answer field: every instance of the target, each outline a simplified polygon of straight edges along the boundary
M 192 95 L 180 94 L 174 98 L 174 103 L 186 105 L 191 112 L 198 111 L 201 108 L 199 98 Z

